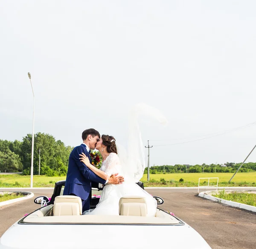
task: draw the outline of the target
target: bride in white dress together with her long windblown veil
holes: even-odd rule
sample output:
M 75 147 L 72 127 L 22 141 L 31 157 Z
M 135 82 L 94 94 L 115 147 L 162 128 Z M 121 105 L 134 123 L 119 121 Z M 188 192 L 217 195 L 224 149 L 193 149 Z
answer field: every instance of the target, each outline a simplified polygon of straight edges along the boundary
M 125 179 L 122 184 L 107 183 L 96 208 L 92 212 L 85 211 L 83 214 L 119 215 L 120 198 L 136 195 L 145 197 L 147 216 L 155 216 L 157 201 L 136 184 L 143 177 L 145 170 L 145 148 L 138 123 L 138 116 L 140 115 L 149 116 L 162 124 L 167 123 L 166 118 L 156 108 L 144 103 L 136 104 L 130 112 L 127 153 L 121 145 L 116 145 L 116 139 L 113 136 L 102 135 L 96 145 L 96 149 L 103 158 L 100 169 L 91 165 L 85 154 L 80 155 L 81 161 L 99 177 L 108 180 L 111 174 L 119 174 Z

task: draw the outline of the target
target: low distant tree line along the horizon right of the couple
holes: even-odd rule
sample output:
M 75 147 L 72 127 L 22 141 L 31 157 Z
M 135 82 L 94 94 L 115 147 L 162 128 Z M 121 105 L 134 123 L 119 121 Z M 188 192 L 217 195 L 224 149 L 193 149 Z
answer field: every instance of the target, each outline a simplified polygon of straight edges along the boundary
M 224 166 L 225 165 L 225 166 Z M 151 166 L 149 174 L 170 174 L 170 173 L 233 173 L 239 168 L 241 163 L 226 162 L 224 165 L 203 163 L 202 165 L 161 165 Z M 256 171 L 256 162 L 244 163 L 239 172 Z M 144 174 L 148 173 L 148 168 L 145 168 Z

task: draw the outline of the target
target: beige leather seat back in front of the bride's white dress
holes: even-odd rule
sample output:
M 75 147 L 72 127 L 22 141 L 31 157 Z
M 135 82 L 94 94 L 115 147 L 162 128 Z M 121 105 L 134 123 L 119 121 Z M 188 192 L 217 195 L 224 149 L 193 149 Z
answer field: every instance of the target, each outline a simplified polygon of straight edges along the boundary
M 119 215 L 146 216 L 147 205 L 144 197 L 125 196 L 119 200 Z

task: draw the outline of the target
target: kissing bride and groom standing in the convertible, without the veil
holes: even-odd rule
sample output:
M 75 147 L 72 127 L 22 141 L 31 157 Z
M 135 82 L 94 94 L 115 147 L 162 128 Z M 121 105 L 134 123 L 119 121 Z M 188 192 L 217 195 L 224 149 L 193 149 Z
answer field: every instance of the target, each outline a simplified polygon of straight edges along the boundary
M 136 182 L 125 182 L 125 167 L 119 159 L 116 139 L 102 135 L 95 129 L 87 129 L 82 133 L 83 143 L 70 153 L 64 195 L 75 195 L 81 198 L 83 214 L 87 215 L 119 215 L 119 200 L 124 196 L 145 197 L 147 216 L 155 216 L 157 201 L 140 188 Z M 98 169 L 92 165 L 90 150 L 97 149 L 102 155 L 102 165 Z M 132 156 L 132 155 L 130 155 Z M 104 185 L 99 203 L 93 211 L 90 209 L 91 183 Z

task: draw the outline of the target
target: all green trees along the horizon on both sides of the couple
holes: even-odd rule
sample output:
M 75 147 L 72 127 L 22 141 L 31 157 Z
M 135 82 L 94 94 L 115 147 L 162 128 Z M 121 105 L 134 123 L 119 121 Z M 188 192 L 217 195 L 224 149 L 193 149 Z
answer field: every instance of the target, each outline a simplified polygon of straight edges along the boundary
M 40 174 L 47 176 L 64 176 L 67 174 L 68 159 L 71 146 L 65 146 L 61 140 L 55 140 L 52 135 L 36 133 L 34 141 L 33 174 L 39 171 L 40 150 Z M 1 172 L 23 172 L 30 174 L 31 167 L 32 134 L 27 134 L 22 141 L 14 142 L 0 139 L 0 171 Z M 235 172 L 241 163 L 227 162 L 224 164 L 202 164 L 202 165 L 157 165 L 149 169 L 150 174 L 169 173 L 208 173 L 208 172 Z M 239 172 L 256 171 L 256 163 L 244 163 Z M 148 169 L 145 168 L 145 174 Z

